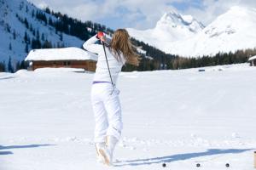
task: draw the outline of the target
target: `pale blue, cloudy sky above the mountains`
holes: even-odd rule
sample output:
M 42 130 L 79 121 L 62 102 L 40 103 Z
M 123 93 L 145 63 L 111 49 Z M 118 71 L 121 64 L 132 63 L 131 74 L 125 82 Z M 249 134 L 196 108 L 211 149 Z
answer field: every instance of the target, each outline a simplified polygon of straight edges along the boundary
M 190 14 L 204 25 L 235 5 L 256 8 L 256 0 L 29 0 L 79 20 L 92 20 L 112 29 L 153 28 L 170 10 Z

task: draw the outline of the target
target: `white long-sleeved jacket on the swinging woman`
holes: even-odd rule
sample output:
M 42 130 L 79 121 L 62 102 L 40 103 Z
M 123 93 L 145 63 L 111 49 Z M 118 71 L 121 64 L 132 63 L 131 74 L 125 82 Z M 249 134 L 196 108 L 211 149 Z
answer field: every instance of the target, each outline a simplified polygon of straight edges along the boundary
M 103 46 L 102 44 L 96 44 L 97 41 L 98 39 L 96 38 L 96 36 L 90 37 L 90 39 L 84 42 L 84 45 L 83 45 L 84 49 L 86 49 L 87 51 L 90 51 L 91 53 L 94 53 L 94 54 L 98 54 L 98 61 L 96 64 L 96 73 L 93 81 L 111 82 L 111 79 L 109 77 L 109 72 L 108 72 L 108 65 L 109 65 L 113 83 L 116 84 L 117 78 L 119 76 L 119 72 L 121 71 L 122 66 L 125 65 L 125 58 L 121 53 L 120 54 L 121 61 L 118 61 L 113 56 L 113 53 L 111 52 L 111 50 L 105 46 L 106 54 L 108 58 L 108 65 L 107 65 Z

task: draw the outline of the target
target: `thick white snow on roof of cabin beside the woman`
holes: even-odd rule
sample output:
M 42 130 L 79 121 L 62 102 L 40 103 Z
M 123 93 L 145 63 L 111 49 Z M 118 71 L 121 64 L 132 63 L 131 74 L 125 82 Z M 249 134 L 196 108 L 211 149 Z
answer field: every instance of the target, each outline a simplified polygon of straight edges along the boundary
M 44 48 L 33 49 L 25 60 L 97 60 L 96 54 L 81 48 Z

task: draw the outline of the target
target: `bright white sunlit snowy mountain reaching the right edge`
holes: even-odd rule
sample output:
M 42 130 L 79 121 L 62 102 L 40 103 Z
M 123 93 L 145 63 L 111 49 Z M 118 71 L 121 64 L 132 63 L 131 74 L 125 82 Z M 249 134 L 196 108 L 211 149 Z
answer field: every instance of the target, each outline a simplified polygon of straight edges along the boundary
M 150 38 L 145 39 L 143 33 L 141 33 L 142 36 L 134 30 L 129 30 L 129 33 L 132 37 L 144 40 L 166 53 L 182 56 L 202 56 L 214 55 L 218 52 L 228 53 L 235 52 L 238 49 L 255 48 L 255 28 L 256 9 L 235 6 L 226 13 L 219 15 L 216 20 L 213 20 L 204 29 L 195 29 L 197 31 L 194 35 L 192 34 L 192 36 L 185 38 L 175 31 L 173 33 L 172 30 L 166 31 L 166 29 L 160 29 L 160 31 L 164 32 L 166 37 L 175 34 L 177 38 L 163 41 L 162 37 L 154 37 L 151 34 L 147 34 L 148 37 L 154 37 L 154 41 L 151 41 Z

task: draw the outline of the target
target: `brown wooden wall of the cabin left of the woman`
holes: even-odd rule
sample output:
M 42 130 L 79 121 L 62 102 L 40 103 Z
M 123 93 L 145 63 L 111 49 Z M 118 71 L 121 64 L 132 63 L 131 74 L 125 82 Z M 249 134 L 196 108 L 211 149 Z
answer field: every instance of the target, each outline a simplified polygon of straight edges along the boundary
M 55 60 L 55 61 L 32 61 L 32 70 L 38 68 L 82 68 L 85 71 L 96 71 L 96 61 L 94 60 Z

